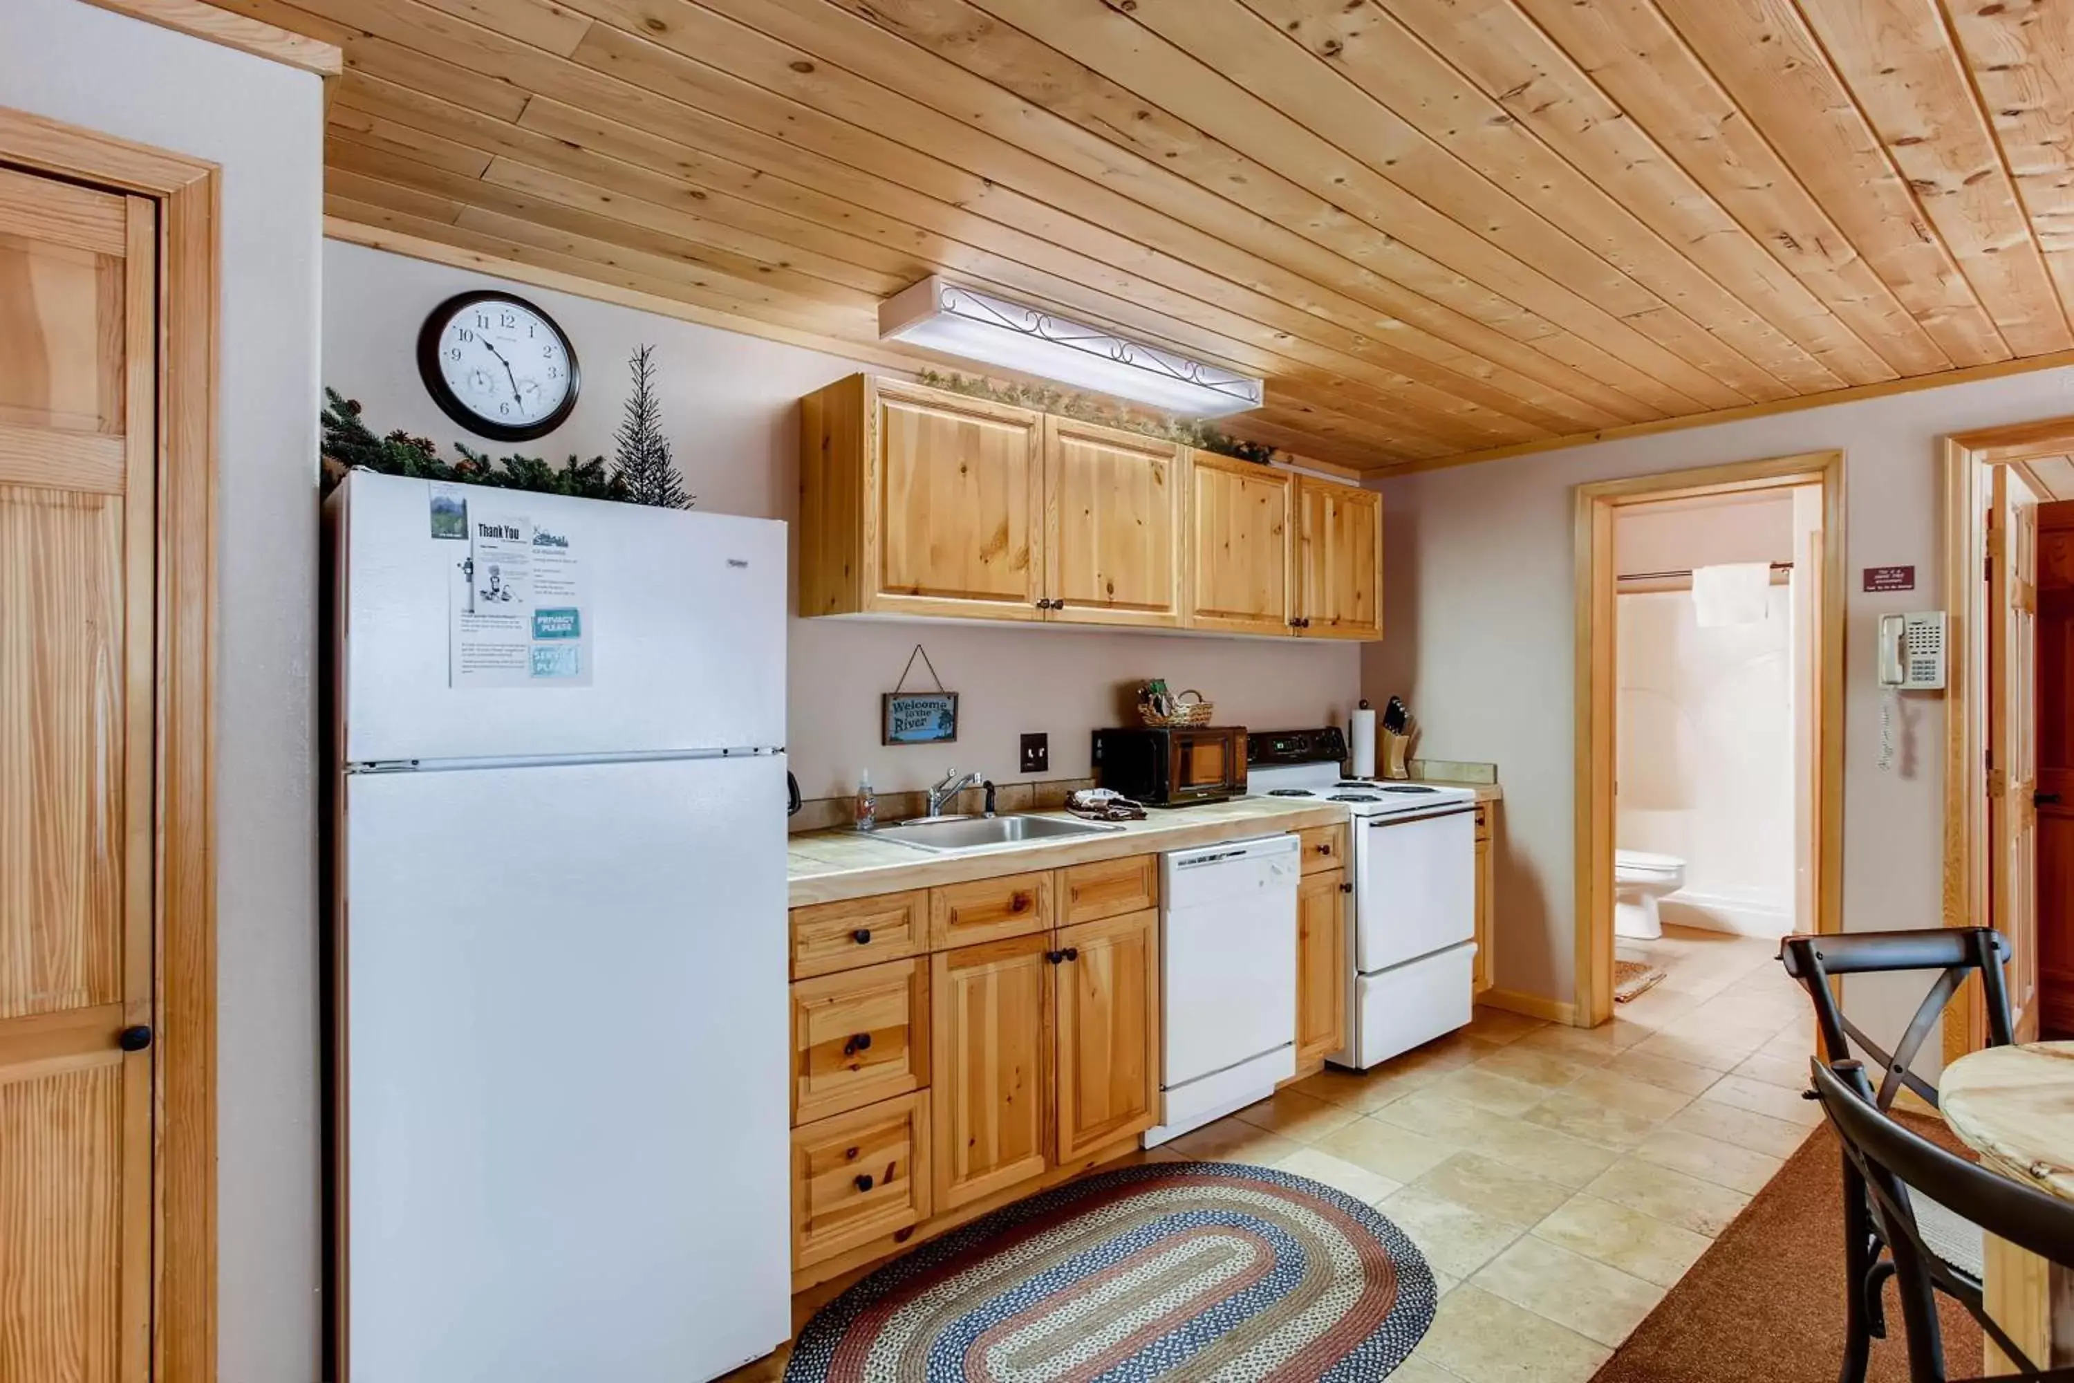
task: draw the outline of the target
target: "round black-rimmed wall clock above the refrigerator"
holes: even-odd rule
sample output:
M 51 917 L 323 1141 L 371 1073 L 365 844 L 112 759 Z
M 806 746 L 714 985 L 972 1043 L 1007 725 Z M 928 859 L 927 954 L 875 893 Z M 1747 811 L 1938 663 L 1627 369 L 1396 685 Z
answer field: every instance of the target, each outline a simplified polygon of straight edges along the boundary
M 417 371 L 446 417 L 498 442 L 560 427 L 583 384 L 554 317 L 508 292 L 463 292 L 431 309 Z

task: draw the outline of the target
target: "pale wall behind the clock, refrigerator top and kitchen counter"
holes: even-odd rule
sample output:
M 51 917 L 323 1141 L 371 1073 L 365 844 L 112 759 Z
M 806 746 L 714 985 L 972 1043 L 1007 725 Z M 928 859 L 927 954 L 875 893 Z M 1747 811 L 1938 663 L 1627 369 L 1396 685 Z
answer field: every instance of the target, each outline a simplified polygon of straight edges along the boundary
M 452 456 L 467 438 L 425 394 L 413 346 L 442 299 L 496 280 L 421 259 L 328 241 L 324 247 L 324 382 L 357 398 L 380 431 L 404 427 Z M 539 442 L 492 446 L 560 462 L 612 454 L 626 398 L 626 357 L 655 350 L 662 417 L 699 506 L 792 518 L 798 504 L 798 406 L 863 365 L 674 317 L 516 286 L 566 330 L 583 363 L 583 396 L 568 423 Z M 958 742 L 879 744 L 879 693 L 900 678 L 915 643 L 960 693 Z M 790 620 L 790 751 L 807 796 L 842 796 L 871 769 L 879 792 L 927 786 L 944 769 L 983 769 L 1018 782 L 1016 736 L 1052 736 L 1041 778 L 1087 775 L 1089 730 L 1124 724 L 1120 684 L 1164 676 L 1217 703 L 1217 719 L 1255 728 L 1338 724 L 1358 699 L 1352 645 L 1290 639 L 1207 639 L 987 624 Z M 927 686 L 921 664 L 915 678 Z

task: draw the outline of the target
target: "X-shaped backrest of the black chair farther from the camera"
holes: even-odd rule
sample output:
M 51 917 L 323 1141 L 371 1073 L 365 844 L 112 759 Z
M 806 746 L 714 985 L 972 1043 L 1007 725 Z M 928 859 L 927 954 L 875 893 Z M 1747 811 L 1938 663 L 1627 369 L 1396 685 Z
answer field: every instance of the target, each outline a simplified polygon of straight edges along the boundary
M 1906 1084 L 1910 1091 L 1937 1103 L 1937 1086 L 1914 1074 L 1910 1064 L 1931 1035 L 1945 1004 L 1966 983 L 1966 977 L 1981 975 L 1981 997 L 1987 1010 L 1987 1045 L 2006 1047 L 2016 1037 L 2010 1031 L 2010 991 L 2001 981 L 2001 966 L 2010 960 L 2010 941 L 1993 927 L 1923 927 L 1914 931 L 1852 931 L 1823 935 L 1792 935 L 1779 941 L 1779 964 L 1809 991 L 1815 1004 L 1815 1020 L 1821 1024 L 1821 1041 L 1831 1062 L 1850 1060 L 1852 1043 L 1871 1066 L 1881 1070 L 1879 1095 L 1873 1099 L 1881 1109 L 1894 1105 L 1894 1097 Z M 1844 1016 L 1835 995 L 1829 991 L 1831 975 L 1894 975 L 1906 970 L 1937 970 L 1929 993 L 1916 1006 L 1908 1031 L 1894 1051 L 1885 1051 L 1865 1031 Z

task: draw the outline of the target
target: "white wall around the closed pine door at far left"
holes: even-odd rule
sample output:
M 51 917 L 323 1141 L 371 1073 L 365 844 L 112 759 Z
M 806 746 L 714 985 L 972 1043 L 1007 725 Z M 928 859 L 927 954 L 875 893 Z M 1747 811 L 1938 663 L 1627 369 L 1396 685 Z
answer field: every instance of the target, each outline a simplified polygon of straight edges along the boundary
M 317 1371 L 313 75 L 77 0 L 0 4 L 0 106 L 222 166 L 216 622 L 222 1383 Z

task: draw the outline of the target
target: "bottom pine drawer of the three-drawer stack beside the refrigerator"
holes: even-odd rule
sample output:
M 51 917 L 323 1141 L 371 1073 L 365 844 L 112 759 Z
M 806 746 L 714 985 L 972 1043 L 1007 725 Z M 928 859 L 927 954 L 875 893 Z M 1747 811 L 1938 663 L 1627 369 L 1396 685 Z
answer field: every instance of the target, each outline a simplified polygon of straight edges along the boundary
M 927 1217 L 927 1097 L 902 1095 L 792 1130 L 794 1271 Z

